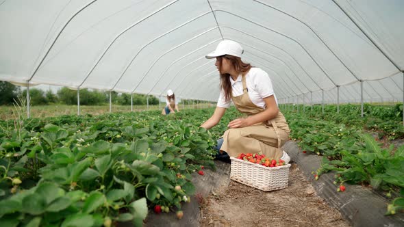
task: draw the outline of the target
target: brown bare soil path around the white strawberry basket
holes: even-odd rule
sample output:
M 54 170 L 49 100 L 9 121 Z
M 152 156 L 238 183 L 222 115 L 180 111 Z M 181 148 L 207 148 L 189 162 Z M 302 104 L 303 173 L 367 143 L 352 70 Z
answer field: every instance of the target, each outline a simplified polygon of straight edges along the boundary
M 316 196 L 295 163 L 286 189 L 264 192 L 231 181 L 203 198 L 200 206 L 201 226 L 350 226 Z

